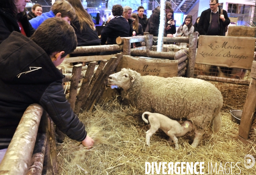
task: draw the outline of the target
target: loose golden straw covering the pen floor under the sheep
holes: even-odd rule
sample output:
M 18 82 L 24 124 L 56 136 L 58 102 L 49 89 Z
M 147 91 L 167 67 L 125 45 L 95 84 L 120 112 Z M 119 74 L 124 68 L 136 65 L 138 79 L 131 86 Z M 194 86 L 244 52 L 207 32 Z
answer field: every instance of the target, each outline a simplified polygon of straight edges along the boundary
M 59 174 L 140 175 L 145 174 L 145 162 L 204 162 L 203 172 L 208 174 L 208 162 L 217 163 L 218 169 L 220 163 L 224 168 L 226 162 L 241 162 L 238 164 L 241 175 L 255 175 L 255 168 L 245 169 L 244 155 L 256 158 L 256 148 L 236 138 L 239 125 L 230 120 L 230 113 L 224 111 L 221 115 L 221 131 L 216 135 L 206 132 L 197 148 L 190 146 L 194 132 L 178 138 L 180 149 L 175 150 L 174 144 L 167 142 L 167 135 L 162 131 L 151 137 L 151 146 L 148 147 L 145 145 L 148 127 L 141 116 L 136 115 L 136 110 L 120 105 L 116 99 L 105 102 L 97 105 L 93 112 L 79 115 L 87 127 L 87 134 L 95 140 L 93 149 L 87 150 L 67 137 L 64 143 L 58 144 Z M 226 171 L 228 173 L 227 168 Z M 239 172 L 235 166 L 232 173 Z M 219 174 L 223 174 L 222 171 Z

